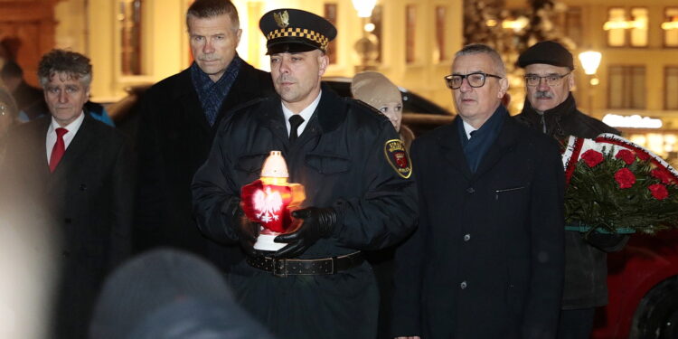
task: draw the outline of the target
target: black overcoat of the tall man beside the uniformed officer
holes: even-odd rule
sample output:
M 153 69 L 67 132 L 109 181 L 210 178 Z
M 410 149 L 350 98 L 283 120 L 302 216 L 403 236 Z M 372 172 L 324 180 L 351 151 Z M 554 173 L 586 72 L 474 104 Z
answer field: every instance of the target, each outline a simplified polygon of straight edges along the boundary
M 221 268 L 242 259 L 240 250 L 224 250 L 198 230 L 192 215 L 191 180 L 207 159 L 216 129 L 227 112 L 250 99 L 274 93 L 270 74 L 242 61 L 211 127 L 193 88 L 190 68 L 146 91 L 137 139 L 137 250 L 180 248 L 211 259 Z

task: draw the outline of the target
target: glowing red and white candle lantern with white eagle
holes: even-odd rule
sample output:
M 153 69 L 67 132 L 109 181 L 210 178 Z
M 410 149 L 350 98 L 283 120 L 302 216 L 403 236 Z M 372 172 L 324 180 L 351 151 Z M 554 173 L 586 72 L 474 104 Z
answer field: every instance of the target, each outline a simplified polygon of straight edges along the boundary
M 286 243 L 273 241 L 279 234 L 293 231 L 300 221 L 292 218 L 306 199 L 304 186 L 287 183 L 287 164 L 280 151 L 271 151 L 261 168 L 259 180 L 242 186 L 240 206 L 250 221 L 261 225 L 257 250 L 280 250 Z

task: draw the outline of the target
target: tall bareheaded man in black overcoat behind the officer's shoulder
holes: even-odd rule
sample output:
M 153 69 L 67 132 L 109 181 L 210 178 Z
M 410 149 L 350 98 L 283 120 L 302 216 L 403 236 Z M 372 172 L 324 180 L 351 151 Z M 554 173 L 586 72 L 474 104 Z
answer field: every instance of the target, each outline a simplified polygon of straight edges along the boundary
M 140 105 L 136 250 L 180 248 L 226 269 L 242 255 L 202 236 L 192 215 L 191 180 L 227 112 L 275 92 L 270 75 L 235 50 L 242 30 L 231 1 L 193 2 L 186 24 L 193 64 L 148 89 Z

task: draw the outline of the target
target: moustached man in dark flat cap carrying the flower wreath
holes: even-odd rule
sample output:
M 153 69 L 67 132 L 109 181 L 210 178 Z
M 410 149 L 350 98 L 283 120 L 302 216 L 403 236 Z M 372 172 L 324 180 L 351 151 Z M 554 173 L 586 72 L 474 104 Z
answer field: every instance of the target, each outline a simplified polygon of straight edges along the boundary
M 562 140 L 597 137 L 619 132 L 577 109 L 572 54 L 558 42 L 538 42 L 521 54 L 527 98 L 519 121 Z M 558 338 L 589 338 L 595 307 L 607 305 L 607 254 L 621 250 L 627 237 L 592 233 L 566 227 L 565 286 Z

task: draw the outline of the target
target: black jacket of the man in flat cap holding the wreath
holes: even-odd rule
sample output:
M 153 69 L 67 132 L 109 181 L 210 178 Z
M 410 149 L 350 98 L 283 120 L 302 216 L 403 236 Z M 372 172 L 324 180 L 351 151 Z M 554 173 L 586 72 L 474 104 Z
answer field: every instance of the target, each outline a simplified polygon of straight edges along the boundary
M 525 100 L 523 112 L 515 116 L 525 125 L 543 130 L 541 116 Z M 564 137 L 598 137 L 601 133 L 619 134 L 617 129 L 591 118 L 577 109 L 574 97 L 544 112 L 546 134 L 557 139 Z M 628 236 L 591 233 L 585 240 L 579 231 L 565 232 L 565 287 L 563 309 L 588 308 L 607 305 L 607 254 L 621 250 Z

